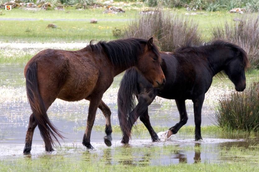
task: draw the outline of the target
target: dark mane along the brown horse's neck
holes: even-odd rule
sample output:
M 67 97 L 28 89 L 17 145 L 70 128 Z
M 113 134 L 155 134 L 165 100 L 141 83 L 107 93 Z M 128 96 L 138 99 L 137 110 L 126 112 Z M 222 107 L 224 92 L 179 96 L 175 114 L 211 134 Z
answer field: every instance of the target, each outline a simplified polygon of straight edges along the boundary
M 134 66 L 138 56 L 143 53 L 141 44 L 147 44 L 148 40 L 139 38 L 118 39 L 113 41 L 99 41 L 94 44 L 91 40 L 85 48 L 87 51 L 106 53 L 114 66 Z M 159 57 L 159 50 L 155 44 L 151 50 Z

